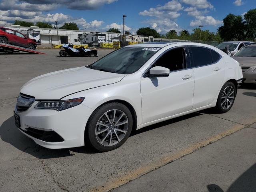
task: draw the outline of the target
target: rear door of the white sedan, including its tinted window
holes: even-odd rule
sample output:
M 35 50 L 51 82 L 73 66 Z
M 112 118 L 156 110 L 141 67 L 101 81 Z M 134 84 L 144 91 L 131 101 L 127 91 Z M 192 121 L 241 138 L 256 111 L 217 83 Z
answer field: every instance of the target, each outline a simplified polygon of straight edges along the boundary
M 225 75 L 221 56 L 206 47 L 190 47 L 194 71 L 193 109 L 211 104 L 219 94 Z

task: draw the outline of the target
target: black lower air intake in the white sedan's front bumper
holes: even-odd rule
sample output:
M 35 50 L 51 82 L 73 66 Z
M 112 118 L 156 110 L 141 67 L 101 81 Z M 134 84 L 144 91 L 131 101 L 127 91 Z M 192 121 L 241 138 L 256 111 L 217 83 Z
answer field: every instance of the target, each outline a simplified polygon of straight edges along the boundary
M 20 129 L 22 130 L 22 129 Z M 35 128 L 27 128 L 26 131 L 22 130 L 26 134 L 46 142 L 62 142 L 64 139 L 54 131 L 44 131 Z

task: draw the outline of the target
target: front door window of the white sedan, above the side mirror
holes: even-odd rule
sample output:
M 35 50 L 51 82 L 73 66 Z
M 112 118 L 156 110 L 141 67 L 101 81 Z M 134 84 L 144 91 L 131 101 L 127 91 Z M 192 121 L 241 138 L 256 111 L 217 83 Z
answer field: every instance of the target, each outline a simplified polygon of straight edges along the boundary
M 181 70 L 186 67 L 186 56 L 184 48 L 172 49 L 164 53 L 154 63 L 154 66 L 161 66 L 170 69 L 170 71 Z

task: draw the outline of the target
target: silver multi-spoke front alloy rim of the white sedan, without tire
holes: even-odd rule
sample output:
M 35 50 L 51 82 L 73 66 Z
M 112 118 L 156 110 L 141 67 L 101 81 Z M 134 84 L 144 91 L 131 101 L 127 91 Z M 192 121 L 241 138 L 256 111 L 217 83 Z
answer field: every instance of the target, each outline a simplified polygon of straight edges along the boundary
M 98 120 L 95 128 L 95 136 L 98 142 L 104 146 L 118 144 L 128 131 L 128 118 L 118 109 L 105 112 Z

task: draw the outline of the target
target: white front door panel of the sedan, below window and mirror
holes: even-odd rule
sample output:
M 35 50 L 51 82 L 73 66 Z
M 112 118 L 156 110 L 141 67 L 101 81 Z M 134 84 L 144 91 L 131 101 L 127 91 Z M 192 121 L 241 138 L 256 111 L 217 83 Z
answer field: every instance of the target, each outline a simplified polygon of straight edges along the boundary
M 168 77 L 141 78 L 142 122 L 147 123 L 192 109 L 192 69 L 171 72 Z

